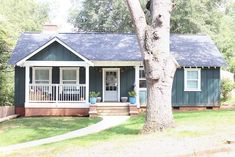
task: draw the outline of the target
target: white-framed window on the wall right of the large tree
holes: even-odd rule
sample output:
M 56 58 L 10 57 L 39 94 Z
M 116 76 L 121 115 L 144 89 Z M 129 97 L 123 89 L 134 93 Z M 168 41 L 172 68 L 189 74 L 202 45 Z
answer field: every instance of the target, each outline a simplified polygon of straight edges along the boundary
M 184 90 L 201 91 L 201 69 L 184 69 Z

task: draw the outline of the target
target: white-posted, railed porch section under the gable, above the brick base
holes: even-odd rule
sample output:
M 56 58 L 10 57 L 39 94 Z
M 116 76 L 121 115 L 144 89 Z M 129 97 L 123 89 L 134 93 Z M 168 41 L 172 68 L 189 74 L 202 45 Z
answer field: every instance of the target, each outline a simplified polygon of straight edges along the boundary
M 89 65 L 69 61 L 25 65 L 25 107 L 89 107 Z

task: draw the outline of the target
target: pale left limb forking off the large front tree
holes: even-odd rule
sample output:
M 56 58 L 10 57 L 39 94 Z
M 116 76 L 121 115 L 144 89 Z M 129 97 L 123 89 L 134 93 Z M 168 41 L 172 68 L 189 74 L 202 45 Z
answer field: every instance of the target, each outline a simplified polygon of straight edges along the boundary
M 132 15 L 132 20 L 135 25 L 136 34 L 138 36 L 138 43 L 142 55 L 145 52 L 144 40 L 145 40 L 145 30 L 147 26 L 146 17 L 144 11 L 141 7 L 139 0 L 126 0 L 128 8 Z

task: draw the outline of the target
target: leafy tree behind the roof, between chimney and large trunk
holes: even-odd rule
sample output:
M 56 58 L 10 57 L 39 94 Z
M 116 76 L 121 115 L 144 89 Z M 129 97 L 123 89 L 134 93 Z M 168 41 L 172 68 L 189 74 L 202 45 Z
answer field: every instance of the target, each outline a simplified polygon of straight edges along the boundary
M 69 22 L 78 31 L 96 32 L 133 32 L 128 8 L 123 0 L 84 0 L 83 7 L 77 7 L 79 1 L 71 11 Z M 145 5 L 145 0 L 142 0 Z

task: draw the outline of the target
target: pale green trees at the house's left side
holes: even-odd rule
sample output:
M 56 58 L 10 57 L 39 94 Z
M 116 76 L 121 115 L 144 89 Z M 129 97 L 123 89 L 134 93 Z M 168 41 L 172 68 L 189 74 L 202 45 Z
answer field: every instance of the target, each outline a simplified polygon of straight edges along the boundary
M 48 6 L 34 0 L 0 0 L 0 105 L 12 104 L 14 73 L 7 62 L 21 32 L 39 31 Z

